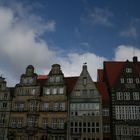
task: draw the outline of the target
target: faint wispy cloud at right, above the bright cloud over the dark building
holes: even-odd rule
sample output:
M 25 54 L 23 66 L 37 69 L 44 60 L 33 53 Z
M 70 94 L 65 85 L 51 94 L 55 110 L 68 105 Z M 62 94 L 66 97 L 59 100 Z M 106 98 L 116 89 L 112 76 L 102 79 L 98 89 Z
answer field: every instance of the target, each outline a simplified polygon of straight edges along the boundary
M 134 38 L 138 36 L 137 30 L 135 27 L 130 27 L 127 30 L 122 31 L 120 35 L 123 37 L 134 37 Z

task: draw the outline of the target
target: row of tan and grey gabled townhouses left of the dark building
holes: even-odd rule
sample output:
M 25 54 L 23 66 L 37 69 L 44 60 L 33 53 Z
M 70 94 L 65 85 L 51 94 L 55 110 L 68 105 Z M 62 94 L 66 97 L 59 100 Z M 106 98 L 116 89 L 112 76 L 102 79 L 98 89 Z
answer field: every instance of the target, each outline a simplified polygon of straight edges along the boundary
M 48 75 L 29 65 L 15 87 L 2 77 L 0 85 L 0 140 L 103 139 L 101 93 L 86 65 L 77 77 L 64 77 L 59 64 Z

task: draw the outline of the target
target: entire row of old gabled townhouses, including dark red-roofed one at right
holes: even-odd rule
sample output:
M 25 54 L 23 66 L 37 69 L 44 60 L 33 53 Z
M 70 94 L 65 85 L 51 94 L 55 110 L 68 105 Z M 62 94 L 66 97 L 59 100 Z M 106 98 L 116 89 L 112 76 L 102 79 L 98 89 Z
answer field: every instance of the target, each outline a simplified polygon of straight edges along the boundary
M 138 140 L 139 78 L 137 57 L 104 62 L 97 82 L 86 64 L 75 77 L 29 65 L 12 88 L 0 77 L 0 140 Z

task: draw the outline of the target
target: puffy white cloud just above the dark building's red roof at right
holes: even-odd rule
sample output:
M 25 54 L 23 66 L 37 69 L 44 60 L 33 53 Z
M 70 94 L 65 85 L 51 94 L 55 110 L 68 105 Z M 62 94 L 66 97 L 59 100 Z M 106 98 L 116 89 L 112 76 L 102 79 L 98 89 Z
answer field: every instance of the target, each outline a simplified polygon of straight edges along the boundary
M 114 60 L 126 61 L 128 59 L 132 61 L 133 56 L 140 56 L 140 49 L 134 46 L 120 45 L 115 50 Z

